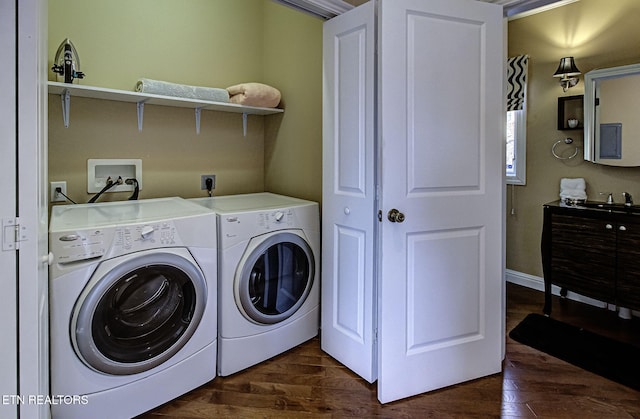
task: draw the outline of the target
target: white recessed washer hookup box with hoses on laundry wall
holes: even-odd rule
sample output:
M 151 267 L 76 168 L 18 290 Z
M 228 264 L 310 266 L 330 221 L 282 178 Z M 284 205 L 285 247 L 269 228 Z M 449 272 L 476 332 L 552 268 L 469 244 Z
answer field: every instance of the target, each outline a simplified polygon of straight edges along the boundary
M 111 178 L 117 182 L 122 178 L 122 184 L 116 185 L 107 192 L 127 192 L 134 190 L 134 184 L 127 185 L 127 179 L 138 181 L 142 190 L 142 160 L 141 159 L 89 159 L 87 160 L 87 192 L 100 192 Z

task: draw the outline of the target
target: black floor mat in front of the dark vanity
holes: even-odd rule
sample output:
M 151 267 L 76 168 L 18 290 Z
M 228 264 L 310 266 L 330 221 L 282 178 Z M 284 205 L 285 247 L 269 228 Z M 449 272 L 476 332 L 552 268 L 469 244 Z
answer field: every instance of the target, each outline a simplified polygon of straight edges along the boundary
M 540 314 L 529 314 L 511 339 L 640 390 L 640 348 Z

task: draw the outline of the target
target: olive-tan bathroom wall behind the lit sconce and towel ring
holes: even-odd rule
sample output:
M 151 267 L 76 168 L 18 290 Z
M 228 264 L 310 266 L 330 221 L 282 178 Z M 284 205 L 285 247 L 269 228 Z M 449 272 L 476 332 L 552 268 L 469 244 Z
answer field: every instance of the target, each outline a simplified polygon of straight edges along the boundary
M 540 238 L 542 205 L 559 199 L 560 179 L 582 177 L 590 200 L 602 201 L 599 192 L 621 192 L 640 197 L 640 168 L 616 168 L 581 158 L 582 130 L 558 131 L 558 97 L 584 93 L 584 73 L 640 62 L 640 2 L 637 0 L 580 0 L 543 13 L 509 22 L 509 56 L 528 54 L 527 185 L 507 188 L 507 268 L 542 276 Z M 560 58 L 574 56 L 580 83 L 563 93 L 552 75 Z M 575 140 L 580 154 L 558 160 L 553 144 L 565 137 Z M 571 147 L 558 146 L 560 153 Z M 638 200 L 636 200 L 638 201 Z M 511 213 L 511 208 L 514 213 Z

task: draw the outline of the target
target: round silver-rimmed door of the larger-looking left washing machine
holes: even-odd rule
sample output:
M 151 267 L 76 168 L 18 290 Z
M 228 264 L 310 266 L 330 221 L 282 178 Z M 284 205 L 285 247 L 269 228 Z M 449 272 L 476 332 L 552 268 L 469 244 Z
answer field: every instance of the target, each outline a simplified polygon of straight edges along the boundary
M 73 327 L 77 351 L 110 374 L 160 365 L 195 331 L 205 290 L 200 270 L 175 254 L 151 253 L 116 265 L 85 289 Z

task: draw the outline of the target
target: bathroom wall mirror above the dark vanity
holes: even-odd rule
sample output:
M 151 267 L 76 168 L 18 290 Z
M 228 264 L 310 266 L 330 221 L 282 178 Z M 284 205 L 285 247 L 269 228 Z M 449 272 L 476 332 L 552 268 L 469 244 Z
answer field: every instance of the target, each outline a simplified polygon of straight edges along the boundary
M 640 64 L 585 74 L 584 159 L 640 166 Z

